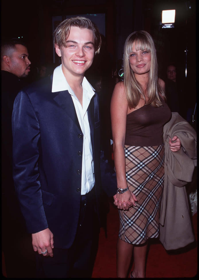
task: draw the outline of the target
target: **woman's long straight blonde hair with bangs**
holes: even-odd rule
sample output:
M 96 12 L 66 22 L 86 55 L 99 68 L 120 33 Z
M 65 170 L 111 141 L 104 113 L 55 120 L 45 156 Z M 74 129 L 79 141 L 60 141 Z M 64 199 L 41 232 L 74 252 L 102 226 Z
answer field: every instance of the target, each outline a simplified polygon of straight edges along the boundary
M 140 83 L 136 80 L 134 72 L 132 71 L 129 63 L 129 56 L 132 52 L 133 45 L 135 44 L 136 51 L 146 50 L 151 54 L 151 66 L 149 71 L 149 81 L 146 88 L 146 94 L 148 95 L 148 101 L 146 102 L 143 89 Z M 165 98 L 163 89 L 158 83 L 158 63 L 156 56 L 156 49 L 152 37 L 146 31 L 136 31 L 131 33 L 124 45 L 124 86 L 127 96 L 127 102 L 130 109 L 135 108 L 141 97 L 144 98 L 145 104 L 151 104 L 154 107 L 162 105 L 159 94 Z

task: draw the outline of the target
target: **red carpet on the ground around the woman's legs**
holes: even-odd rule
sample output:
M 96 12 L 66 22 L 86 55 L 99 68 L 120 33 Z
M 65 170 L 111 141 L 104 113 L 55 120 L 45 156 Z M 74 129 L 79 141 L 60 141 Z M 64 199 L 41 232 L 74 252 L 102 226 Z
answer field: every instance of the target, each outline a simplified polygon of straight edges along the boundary
M 192 219 L 197 242 L 197 213 Z M 107 216 L 107 238 L 105 237 L 105 231 L 101 229 L 99 248 L 92 278 L 117 277 L 116 243 L 118 230 L 118 210 L 111 201 L 110 211 Z M 192 278 L 197 275 L 197 267 L 196 244 L 191 244 L 191 246 L 171 253 L 165 250 L 158 239 L 150 241 L 146 265 L 146 278 Z

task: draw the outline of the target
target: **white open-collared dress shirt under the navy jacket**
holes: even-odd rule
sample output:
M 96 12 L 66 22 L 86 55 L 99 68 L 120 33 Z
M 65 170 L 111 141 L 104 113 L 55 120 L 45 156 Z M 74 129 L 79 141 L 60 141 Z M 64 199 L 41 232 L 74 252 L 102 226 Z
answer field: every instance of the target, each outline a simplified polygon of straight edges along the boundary
M 82 153 L 82 186 L 81 186 L 81 195 L 85 195 L 94 186 L 94 165 L 92 158 L 92 146 L 90 139 L 90 125 L 88 122 L 88 105 L 90 100 L 94 95 L 94 89 L 90 83 L 84 77 L 82 81 L 83 88 L 83 101 L 82 105 L 80 104 L 78 98 L 76 97 L 74 91 L 71 89 L 67 80 L 63 74 L 61 65 L 55 68 L 53 73 L 53 83 L 52 83 L 52 92 L 59 92 L 63 90 L 68 90 L 71 98 L 73 100 L 78 121 L 84 135 L 83 139 L 83 153 Z

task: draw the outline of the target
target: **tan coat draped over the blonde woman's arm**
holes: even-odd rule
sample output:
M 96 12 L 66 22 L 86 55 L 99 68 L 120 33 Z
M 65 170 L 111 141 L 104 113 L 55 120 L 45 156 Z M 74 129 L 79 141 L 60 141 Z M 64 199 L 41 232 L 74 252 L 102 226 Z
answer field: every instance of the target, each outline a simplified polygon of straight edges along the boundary
M 169 149 L 169 138 L 179 137 L 179 151 Z M 160 241 L 166 250 L 194 242 L 185 185 L 192 181 L 196 166 L 196 131 L 177 112 L 164 126 L 165 181 L 160 211 Z

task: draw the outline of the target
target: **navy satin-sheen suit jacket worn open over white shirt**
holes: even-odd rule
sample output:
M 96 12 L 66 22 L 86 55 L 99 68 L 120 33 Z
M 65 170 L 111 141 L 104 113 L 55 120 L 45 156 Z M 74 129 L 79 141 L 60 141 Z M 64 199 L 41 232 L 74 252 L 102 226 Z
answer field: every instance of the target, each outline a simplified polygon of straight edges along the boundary
M 98 107 L 95 94 L 87 111 L 100 217 Z M 52 77 L 23 89 L 14 102 L 12 130 L 13 179 L 28 232 L 49 228 L 55 247 L 69 248 L 78 226 L 83 151 L 83 133 L 69 92 L 52 93 Z M 106 192 L 115 195 L 115 186 Z

